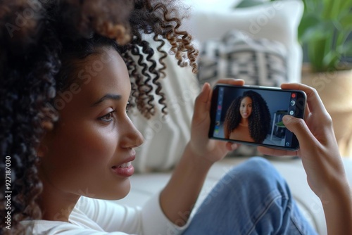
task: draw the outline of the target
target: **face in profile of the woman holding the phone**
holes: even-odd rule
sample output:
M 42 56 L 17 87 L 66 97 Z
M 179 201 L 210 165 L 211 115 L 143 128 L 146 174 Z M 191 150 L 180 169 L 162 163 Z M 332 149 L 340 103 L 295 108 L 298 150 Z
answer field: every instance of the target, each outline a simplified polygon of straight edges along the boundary
M 63 193 L 119 199 L 130 191 L 134 147 L 143 137 L 126 114 L 131 87 L 124 61 L 114 49 L 100 52 L 82 64 L 81 75 L 90 78 L 68 90 L 72 99 L 44 136 L 39 172 L 43 182 Z

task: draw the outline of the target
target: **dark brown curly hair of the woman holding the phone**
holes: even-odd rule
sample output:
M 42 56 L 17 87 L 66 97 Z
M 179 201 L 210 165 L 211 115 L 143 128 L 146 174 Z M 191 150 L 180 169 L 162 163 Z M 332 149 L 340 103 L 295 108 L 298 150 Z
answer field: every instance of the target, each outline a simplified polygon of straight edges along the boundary
M 112 46 L 130 74 L 131 106 L 150 118 L 156 113 L 154 92 L 162 113 L 167 113 L 159 82 L 169 54 L 164 44 L 170 44 L 180 66 L 189 64 L 193 72 L 197 70 L 198 51 L 191 36 L 180 30 L 178 8 L 173 0 L 1 1 L 0 211 L 1 224 L 11 212 L 11 234 L 23 232 L 21 220 L 42 216 L 36 201 L 42 191 L 37 147 L 46 129 L 58 120 L 58 92 L 77 81 L 75 75 L 87 56 Z M 152 36 L 156 49 L 146 34 Z M 9 169 L 11 174 L 6 175 Z M 11 184 L 6 185 L 6 176 Z M 6 200 L 6 191 L 11 191 L 11 201 Z M 10 210 L 6 203 L 11 203 Z M 10 230 L 0 234 L 4 231 Z

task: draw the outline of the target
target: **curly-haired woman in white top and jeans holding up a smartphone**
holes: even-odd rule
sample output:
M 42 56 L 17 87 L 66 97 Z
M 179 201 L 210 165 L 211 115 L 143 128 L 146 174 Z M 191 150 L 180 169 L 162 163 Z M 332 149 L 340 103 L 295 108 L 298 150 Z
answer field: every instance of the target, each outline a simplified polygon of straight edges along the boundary
M 234 168 L 219 182 L 225 190 L 210 193 L 189 220 L 192 205 L 211 165 L 237 148 L 236 144 L 206 137 L 210 123 L 209 84 L 203 86 L 196 99 L 191 139 L 163 191 L 144 208 L 127 208 L 106 201 L 128 193 L 128 177 L 134 170 L 131 162 L 137 157 L 134 148 L 143 142 L 126 114 L 127 107 L 135 104 L 146 117 L 153 115 L 153 97 L 149 96 L 153 87 L 161 96 L 159 102 L 164 102 L 156 78 L 160 70 L 154 67 L 153 51 L 139 33 L 142 29 L 156 33 L 157 41 L 159 37 L 167 38 L 181 62 L 184 49 L 188 49 L 190 61 L 196 51 L 192 50 L 186 33 L 177 33 L 178 20 L 171 17 L 175 13 L 170 11 L 171 3 L 135 1 L 134 6 L 130 6 L 130 1 L 104 1 L 99 5 L 101 2 L 45 1 L 44 5 L 39 4 L 42 8 L 37 8 L 39 16 L 31 18 L 34 23 L 16 35 L 19 38 L 15 35 L 12 39 L 1 38 L 7 46 L 1 49 L 0 90 L 1 101 L 4 101 L 1 104 L 1 131 L 4 133 L 1 155 L 11 156 L 12 178 L 11 230 L 1 229 L 11 234 L 23 234 L 23 229 L 26 234 L 205 234 L 207 231 L 212 234 L 241 234 L 243 231 L 247 234 L 253 231 L 314 234 L 292 201 L 284 179 L 261 159 Z M 18 8 L 11 8 L 14 6 Z M 30 6 L 24 1 L 16 1 L 1 9 L 13 13 L 27 7 Z M 114 18 L 116 11 L 111 9 L 121 9 L 122 18 Z M 126 9 L 131 9 L 130 15 L 125 14 Z M 11 15 L 1 15 L 1 19 L 6 18 L 1 23 L 8 22 Z M 35 20 L 43 21 L 37 25 Z M 44 28 L 38 29 L 38 26 Z M 68 32 L 63 34 L 61 30 Z M 132 41 L 129 41 L 129 32 Z M 182 37 L 178 37 L 180 35 Z M 18 45 L 23 50 L 13 51 Z M 149 65 L 139 60 L 143 56 L 139 49 L 148 55 Z M 23 57 L 17 57 L 19 55 Z M 138 61 L 134 61 L 134 56 Z M 142 70 L 137 70 L 139 66 Z M 144 68 L 149 68 L 150 77 Z M 220 82 L 244 84 L 240 80 Z M 315 102 L 315 94 L 308 94 L 308 97 L 310 102 Z M 316 117 L 314 113 L 311 115 Z M 291 127 L 295 132 L 294 123 Z M 321 125 L 315 131 L 321 132 Z M 325 134 L 329 136 L 331 128 L 327 128 Z M 319 147 L 319 143 L 316 144 Z M 330 157 L 339 163 L 336 156 L 329 155 L 335 148 L 332 143 L 329 149 L 322 149 L 320 161 Z M 306 157 L 314 155 L 315 149 Z M 341 165 L 329 168 L 330 171 L 318 169 L 315 172 L 310 169 L 318 193 L 322 192 L 320 186 L 326 183 L 320 180 L 320 174 L 342 176 L 339 182 L 332 180 L 330 183 L 346 189 Z M 246 185 L 239 181 L 245 176 L 251 179 Z M 3 184 L 1 193 L 6 191 Z M 346 196 L 344 192 L 338 191 L 339 196 Z M 256 200 L 249 201 L 249 195 Z M 2 197 L 1 200 L 5 201 Z M 257 205 L 263 205 L 264 201 L 269 206 L 259 211 Z M 348 200 L 344 203 L 346 206 Z M 337 209 L 331 208 L 332 212 Z M 222 216 L 215 221 L 212 212 L 220 212 Z M 6 213 L 6 208 L 1 208 L 2 218 Z M 351 216 L 346 213 L 339 217 L 339 222 L 348 218 Z M 208 220 L 215 224 L 204 223 Z M 339 231 L 346 229 L 348 227 Z

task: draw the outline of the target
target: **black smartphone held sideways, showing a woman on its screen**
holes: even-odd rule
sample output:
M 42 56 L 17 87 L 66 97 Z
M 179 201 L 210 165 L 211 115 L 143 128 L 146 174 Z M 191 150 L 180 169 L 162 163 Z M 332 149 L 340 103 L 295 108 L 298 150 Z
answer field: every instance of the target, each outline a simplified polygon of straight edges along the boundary
M 217 84 L 210 106 L 209 138 L 296 151 L 296 136 L 282 123 L 284 115 L 303 118 L 303 91 L 277 87 Z

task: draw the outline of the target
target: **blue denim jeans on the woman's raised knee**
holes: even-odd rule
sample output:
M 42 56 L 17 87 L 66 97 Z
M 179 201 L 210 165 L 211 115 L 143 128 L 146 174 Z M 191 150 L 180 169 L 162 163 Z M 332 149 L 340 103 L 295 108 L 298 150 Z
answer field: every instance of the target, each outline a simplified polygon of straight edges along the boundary
M 316 234 L 289 187 L 264 158 L 232 168 L 203 201 L 184 234 Z

